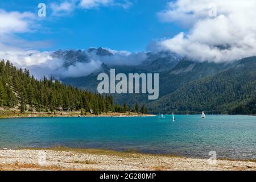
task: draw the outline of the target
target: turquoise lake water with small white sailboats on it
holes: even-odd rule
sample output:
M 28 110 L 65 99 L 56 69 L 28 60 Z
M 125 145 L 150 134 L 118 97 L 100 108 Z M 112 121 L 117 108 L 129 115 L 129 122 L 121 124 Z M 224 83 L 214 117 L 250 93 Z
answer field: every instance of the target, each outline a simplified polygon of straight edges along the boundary
M 134 118 L 0 119 L 0 148 L 102 148 L 209 158 L 256 159 L 256 117 L 176 115 Z

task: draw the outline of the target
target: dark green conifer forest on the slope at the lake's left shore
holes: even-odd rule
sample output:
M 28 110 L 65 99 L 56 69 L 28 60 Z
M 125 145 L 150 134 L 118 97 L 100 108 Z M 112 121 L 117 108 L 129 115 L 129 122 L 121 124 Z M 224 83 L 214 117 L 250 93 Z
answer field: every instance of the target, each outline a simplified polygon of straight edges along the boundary
M 96 115 L 101 113 L 137 111 L 146 114 L 138 103 L 133 109 L 126 104 L 114 104 L 113 96 L 103 96 L 82 91 L 53 78 L 37 80 L 28 69 L 18 69 L 10 61 L 0 62 L 0 107 L 18 108 L 24 111 L 73 111 L 81 110 Z

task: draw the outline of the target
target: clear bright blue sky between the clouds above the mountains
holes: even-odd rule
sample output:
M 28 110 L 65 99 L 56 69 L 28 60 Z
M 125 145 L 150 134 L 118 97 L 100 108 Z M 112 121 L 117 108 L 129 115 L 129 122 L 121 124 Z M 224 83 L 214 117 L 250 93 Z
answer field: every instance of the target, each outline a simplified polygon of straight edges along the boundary
M 46 18 L 36 17 L 38 27 L 33 32 L 16 34 L 25 40 L 50 43 L 40 50 L 108 47 L 130 52 L 145 51 L 152 40 L 172 38 L 183 31 L 177 24 L 159 19 L 157 13 L 166 9 L 167 0 L 129 0 L 128 8 L 114 5 L 90 9 L 74 7 L 71 12 L 58 16 L 52 14 L 49 6 L 52 2 L 65 1 L 9 0 L 1 2 L 0 9 L 20 13 L 29 11 L 37 15 L 40 2 L 46 3 Z

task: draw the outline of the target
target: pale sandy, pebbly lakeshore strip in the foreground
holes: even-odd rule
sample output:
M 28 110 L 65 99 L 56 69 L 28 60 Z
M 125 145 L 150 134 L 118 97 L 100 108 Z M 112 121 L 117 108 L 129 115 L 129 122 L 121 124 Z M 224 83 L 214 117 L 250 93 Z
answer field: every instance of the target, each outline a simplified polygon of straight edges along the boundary
M 0 170 L 256 170 L 255 161 L 147 155 L 105 150 L 1 150 Z

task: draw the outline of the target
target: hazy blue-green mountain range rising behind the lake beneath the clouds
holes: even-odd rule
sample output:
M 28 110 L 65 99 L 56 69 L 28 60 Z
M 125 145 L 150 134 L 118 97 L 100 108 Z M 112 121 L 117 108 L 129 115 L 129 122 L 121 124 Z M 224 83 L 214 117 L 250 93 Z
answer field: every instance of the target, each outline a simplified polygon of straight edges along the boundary
M 64 67 L 77 62 L 88 63 L 91 54 L 114 59 L 114 53 L 103 48 L 85 51 L 56 51 L 53 57 L 64 60 Z M 145 94 L 114 94 L 115 102 L 133 106 L 146 104 L 151 113 L 220 113 L 255 114 L 256 57 L 227 62 L 194 61 L 168 51 L 148 52 L 138 64 L 106 64 L 84 77 L 61 78 L 62 82 L 82 90 L 97 92 L 98 73 L 159 73 L 159 100 L 149 101 Z M 120 60 L 122 61 L 122 60 Z M 134 60 L 136 62 L 136 60 Z M 111 62 L 110 62 L 111 63 Z M 246 108 L 244 113 L 241 108 Z M 255 107 L 254 107 L 255 108 Z M 239 111 L 239 112 L 238 112 Z

